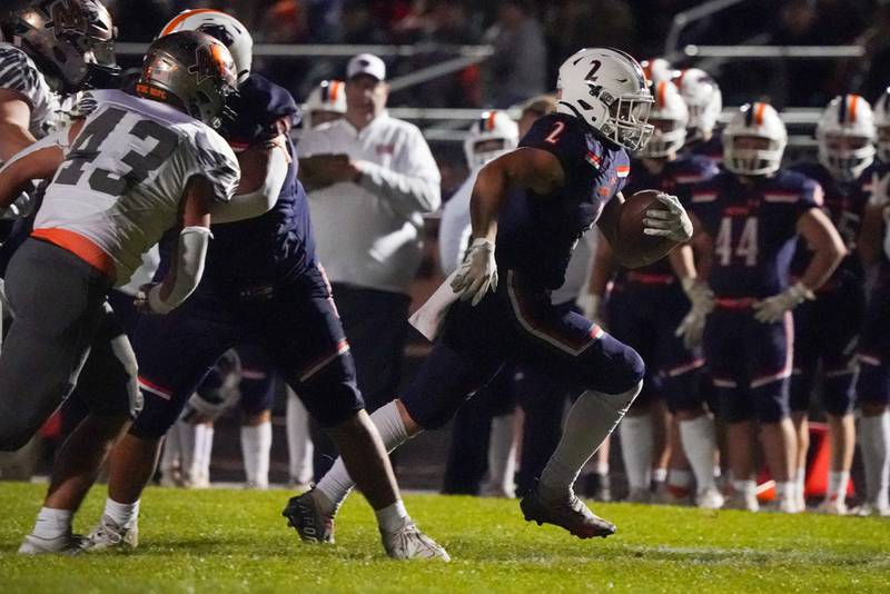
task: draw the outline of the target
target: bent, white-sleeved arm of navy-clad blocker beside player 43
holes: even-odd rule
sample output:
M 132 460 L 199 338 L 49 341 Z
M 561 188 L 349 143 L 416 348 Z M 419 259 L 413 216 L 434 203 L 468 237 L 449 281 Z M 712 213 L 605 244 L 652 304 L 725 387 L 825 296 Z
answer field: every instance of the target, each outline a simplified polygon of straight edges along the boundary
M 284 137 L 254 145 L 238 154 L 241 178 L 231 200 L 215 202 L 214 222 L 235 222 L 268 212 L 278 201 L 287 178 L 290 155 Z

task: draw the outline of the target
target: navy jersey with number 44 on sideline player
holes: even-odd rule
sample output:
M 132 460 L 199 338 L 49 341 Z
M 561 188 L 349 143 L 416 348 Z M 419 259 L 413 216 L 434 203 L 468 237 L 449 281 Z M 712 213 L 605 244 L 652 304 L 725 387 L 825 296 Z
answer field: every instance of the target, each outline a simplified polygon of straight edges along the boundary
M 710 283 L 718 297 L 763 298 L 789 285 L 798 218 L 822 206 L 822 188 L 780 169 L 742 184 L 723 171 L 692 189 L 691 209 L 714 245 Z

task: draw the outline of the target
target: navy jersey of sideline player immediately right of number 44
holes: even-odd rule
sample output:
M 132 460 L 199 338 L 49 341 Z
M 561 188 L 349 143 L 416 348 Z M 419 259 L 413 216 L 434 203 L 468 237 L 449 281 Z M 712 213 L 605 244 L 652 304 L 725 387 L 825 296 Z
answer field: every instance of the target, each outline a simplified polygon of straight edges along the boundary
M 876 161 L 854 181 L 838 181 L 828 169 L 814 162 L 802 162 L 792 167 L 794 171 L 814 179 L 822 186 L 825 192 L 825 206 L 822 210 L 837 227 L 848 249 L 847 257 L 843 258 L 827 284 L 829 287 L 837 287 L 839 284 L 849 281 L 860 283 L 864 277 L 862 263 L 856 253 L 856 244 L 862 227 L 862 215 L 876 182 L 873 177 L 880 175 L 879 169 L 882 167 L 884 166 L 879 166 Z M 802 276 L 812 257 L 813 251 L 801 239 L 791 265 L 792 274 Z

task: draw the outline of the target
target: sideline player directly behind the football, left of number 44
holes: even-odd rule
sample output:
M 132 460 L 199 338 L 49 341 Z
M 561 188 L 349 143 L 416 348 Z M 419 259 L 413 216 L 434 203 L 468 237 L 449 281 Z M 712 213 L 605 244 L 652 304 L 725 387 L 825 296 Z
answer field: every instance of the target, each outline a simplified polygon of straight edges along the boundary
M 686 138 L 688 110 L 676 87 L 668 80 L 657 81 L 653 85 L 653 96 L 655 105 L 649 121 L 655 131 L 636 154 L 639 159 L 631 168 L 625 190 L 633 194 L 657 188 L 682 198 L 688 194 L 684 188 L 713 177 L 718 169 L 704 157 L 678 156 Z M 602 296 L 609 280 L 606 271 L 613 267 L 612 251 L 604 241 L 597 248 L 596 261 L 594 279 L 599 283 L 594 291 Z M 723 496 L 714 484 L 713 418 L 699 392 L 704 359 L 695 348 L 698 345 L 684 344 L 675 336 L 689 303 L 701 300 L 705 290 L 694 281 L 681 287 L 668 259 L 635 270 L 620 269 L 612 289 L 609 329 L 642 354 L 651 376 L 642 397 L 634 402 L 619 427 L 633 502 L 647 502 L 650 497 L 654 443 L 649 404 L 653 393 L 660 393 L 680 423 L 682 447 L 698 483 L 696 504 L 708 509 L 723 505 Z

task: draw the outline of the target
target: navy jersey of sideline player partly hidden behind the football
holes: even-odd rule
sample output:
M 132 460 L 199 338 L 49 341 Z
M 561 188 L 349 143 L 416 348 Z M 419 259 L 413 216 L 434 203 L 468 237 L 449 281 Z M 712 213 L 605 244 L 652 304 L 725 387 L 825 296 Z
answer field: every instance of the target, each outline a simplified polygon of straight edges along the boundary
M 680 198 L 684 207 L 689 207 L 692 187 L 711 179 L 718 174 L 719 169 L 711 159 L 706 157 L 688 155 L 673 161 L 664 164 L 664 168 L 657 172 L 650 172 L 643 164 L 634 164 L 631 167 L 631 175 L 627 177 L 627 185 L 624 187 L 625 196 L 632 196 L 641 190 L 662 190 L 673 194 Z M 645 278 L 647 275 L 656 277 L 673 278 L 673 270 L 668 258 L 662 258 L 649 266 L 634 269 L 632 278 Z M 617 279 L 627 278 L 627 269 L 619 270 Z M 656 280 L 653 278 L 653 280 Z

